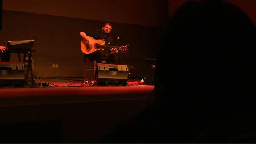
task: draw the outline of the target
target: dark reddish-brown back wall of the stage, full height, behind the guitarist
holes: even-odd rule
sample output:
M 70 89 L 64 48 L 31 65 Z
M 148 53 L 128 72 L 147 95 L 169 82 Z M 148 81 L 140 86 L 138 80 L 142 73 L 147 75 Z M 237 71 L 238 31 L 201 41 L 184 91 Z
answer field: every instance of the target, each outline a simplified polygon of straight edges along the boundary
M 129 44 L 128 52 L 120 54 L 120 64 L 133 67 L 132 77 L 142 78 L 151 66 L 142 58 L 156 57 L 167 18 L 168 0 L 3 0 L 0 45 L 34 39 L 36 77 L 83 77 L 79 32 L 110 22 L 112 37 L 121 37 L 115 44 Z

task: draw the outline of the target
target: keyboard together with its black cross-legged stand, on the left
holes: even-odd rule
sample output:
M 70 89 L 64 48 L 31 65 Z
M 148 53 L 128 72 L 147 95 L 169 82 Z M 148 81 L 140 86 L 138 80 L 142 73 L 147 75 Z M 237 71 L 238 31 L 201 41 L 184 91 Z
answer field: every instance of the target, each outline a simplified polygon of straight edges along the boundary
M 28 65 L 27 65 L 27 71 L 25 75 L 25 82 L 28 82 L 28 74 L 31 74 L 31 82 L 32 85 L 35 85 L 35 78 L 34 73 L 32 70 L 32 52 L 36 52 L 36 49 L 33 49 L 34 46 L 34 40 L 20 40 L 20 41 L 8 41 L 7 42 L 7 48 L 10 50 L 11 53 L 18 53 L 19 62 L 21 62 L 20 59 L 20 53 L 24 54 L 23 57 L 23 63 L 25 65 L 26 62 L 26 54 L 28 54 Z

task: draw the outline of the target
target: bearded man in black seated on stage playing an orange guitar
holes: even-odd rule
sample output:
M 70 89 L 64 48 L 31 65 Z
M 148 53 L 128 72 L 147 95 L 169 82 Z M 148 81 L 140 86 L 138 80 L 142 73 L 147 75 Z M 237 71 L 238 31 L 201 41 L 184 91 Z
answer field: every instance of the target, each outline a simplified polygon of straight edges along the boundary
M 111 24 L 106 23 L 100 31 L 95 31 L 90 36 L 87 36 L 85 32 L 80 32 L 81 50 L 89 60 L 96 60 L 97 63 L 106 61 L 106 63 L 118 64 L 118 48 L 110 46 L 113 41 L 109 36 L 111 29 Z

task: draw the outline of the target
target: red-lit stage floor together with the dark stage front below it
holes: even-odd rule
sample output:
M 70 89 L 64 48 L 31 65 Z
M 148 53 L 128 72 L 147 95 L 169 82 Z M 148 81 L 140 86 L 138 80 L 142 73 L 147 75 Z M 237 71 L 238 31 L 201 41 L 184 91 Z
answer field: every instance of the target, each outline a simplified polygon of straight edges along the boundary
M 94 143 L 154 100 L 154 86 L 140 80 L 127 86 L 82 83 L 81 78 L 40 78 L 33 87 L 1 87 L 2 142 Z

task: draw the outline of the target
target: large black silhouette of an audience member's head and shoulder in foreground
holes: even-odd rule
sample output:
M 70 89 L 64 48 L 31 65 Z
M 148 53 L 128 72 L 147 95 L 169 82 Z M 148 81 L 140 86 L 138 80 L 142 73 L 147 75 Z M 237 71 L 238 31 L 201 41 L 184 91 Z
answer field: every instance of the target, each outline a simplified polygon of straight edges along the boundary
M 256 142 L 255 41 L 236 6 L 184 3 L 156 60 L 155 103 L 102 141 Z

